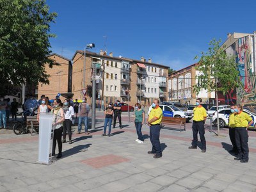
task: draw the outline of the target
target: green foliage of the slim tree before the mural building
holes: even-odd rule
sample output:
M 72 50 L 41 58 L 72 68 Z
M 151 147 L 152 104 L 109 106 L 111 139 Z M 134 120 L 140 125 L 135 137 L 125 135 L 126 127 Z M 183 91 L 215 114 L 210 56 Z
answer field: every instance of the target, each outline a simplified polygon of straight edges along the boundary
M 202 56 L 196 70 L 200 74 L 196 76 L 198 83 L 193 86 L 193 92 L 198 94 L 202 88 L 208 92 L 222 92 L 233 90 L 241 84 L 235 56 L 227 55 L 225 47 L 220 47 L 221 40 L 213 39 L 209 43 L 207 52 L 201 52 Z M 197 56 L 196 56 L 197 58 Z

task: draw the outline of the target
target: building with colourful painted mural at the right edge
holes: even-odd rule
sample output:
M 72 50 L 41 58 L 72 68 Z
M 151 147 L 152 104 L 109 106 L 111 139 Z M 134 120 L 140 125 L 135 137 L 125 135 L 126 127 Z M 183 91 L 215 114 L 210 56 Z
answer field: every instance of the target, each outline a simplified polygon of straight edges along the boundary
M 237 70 L 242 88 L 218 93 L 221 103 L 255 104 L 256 102 L 256 31 L 253 33 L 228 33 L 223 46 L 227 54 L 236 56 Z

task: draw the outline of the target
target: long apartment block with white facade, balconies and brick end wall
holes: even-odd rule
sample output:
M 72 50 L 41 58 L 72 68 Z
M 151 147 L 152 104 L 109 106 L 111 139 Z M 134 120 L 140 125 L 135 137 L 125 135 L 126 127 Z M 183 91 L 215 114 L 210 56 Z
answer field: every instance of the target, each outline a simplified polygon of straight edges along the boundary
M 162 101 L 167 99 L 169 67 L 152 63 L 152 60 L 146 61 L 143 57 L 141 60 L 133 60 L 115 57 L 112 52 L 107 55 L 104 51 L 99 54 L 86 51 L 85 58 L 84 62 L 84 51 L 76 51 L 72 58 L 74 99 L 81 99 L 83 90 L 86 90 L 87 85 L 92 85 L 93 65 L 97 65 L 97 104 L 106 105 L 118 99 L 134 105 L 136 102 L 152 103 L 154 98 Z M 90 97 L 86 97 L 90 101 Z

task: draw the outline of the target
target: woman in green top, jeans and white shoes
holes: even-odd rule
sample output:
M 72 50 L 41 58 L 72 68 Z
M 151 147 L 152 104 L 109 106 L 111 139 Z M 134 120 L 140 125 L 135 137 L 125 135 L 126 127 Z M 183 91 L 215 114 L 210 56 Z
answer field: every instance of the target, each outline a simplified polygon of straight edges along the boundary
M 139 103 L 136 103 L 134 124 L 135 124 L 137 135 L 138 135 L 138 139 L 135 141 L 137 141 L 138 143 L 144 143 L 143 134 L 141 132 L 141 127 L 144 121 L 145 121 L 145 112 L 143 109 L 141 109 L 141 105 Z

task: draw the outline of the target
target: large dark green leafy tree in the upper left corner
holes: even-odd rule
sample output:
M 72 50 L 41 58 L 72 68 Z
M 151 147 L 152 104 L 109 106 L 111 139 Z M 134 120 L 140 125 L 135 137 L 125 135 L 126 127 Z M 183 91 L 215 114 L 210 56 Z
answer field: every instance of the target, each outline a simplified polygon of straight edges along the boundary
M 0 81 L 13 85 L 49 83 L 50 24 L 56 13 L 45 0 L 0 0 Z M 4 81 L 2 81 L 4 80 Z

